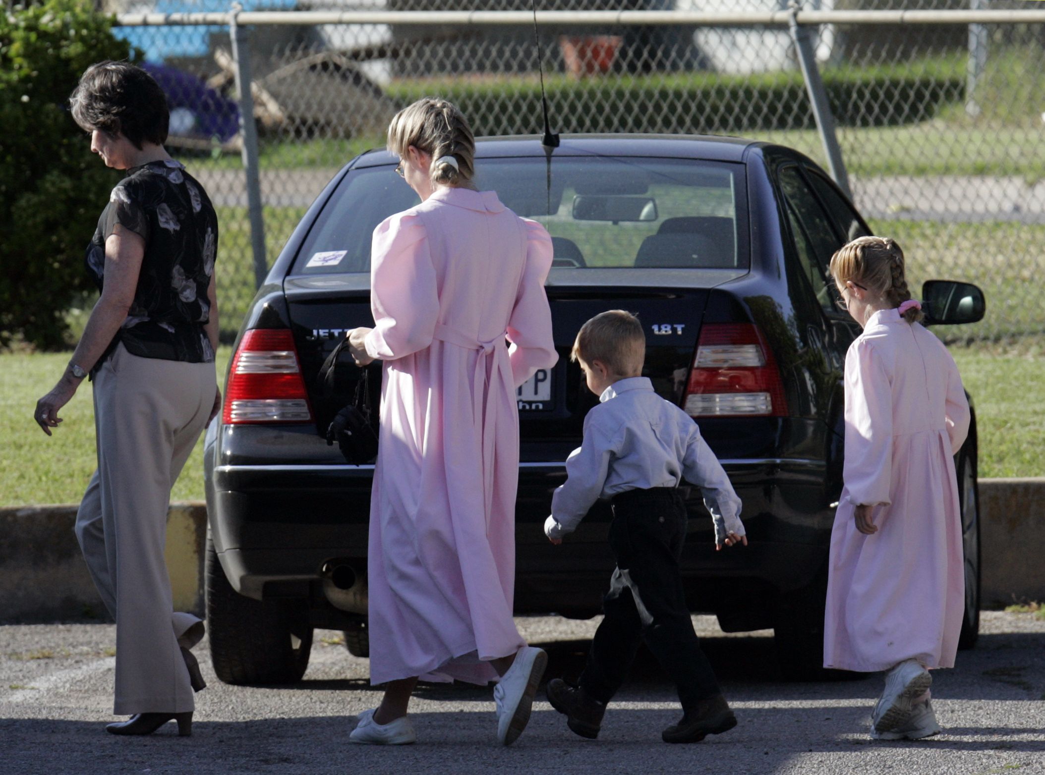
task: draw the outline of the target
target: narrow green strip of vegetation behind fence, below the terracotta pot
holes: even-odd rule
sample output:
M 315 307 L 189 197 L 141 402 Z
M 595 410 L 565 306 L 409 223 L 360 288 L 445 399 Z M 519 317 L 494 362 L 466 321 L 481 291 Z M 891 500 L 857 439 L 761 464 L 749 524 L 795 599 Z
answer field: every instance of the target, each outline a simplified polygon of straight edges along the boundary
M 880 67 L 826 68 L 825 88 L 835 121 L 886 126 L 934 117 L 960 101 L 960 63 L 934 60 Z M 802 73 L 652 74 L 573 80 L 545 77 L 553 128 L 562 132 L 742 134 L 815 126 Z M 438 94 L 458 104 L 482 135 L 539 132 L 540 84 L 516 76 L 397 80 L 386 93 L 401 104 Z M 881 104 L 877 111 L 868 107 Z M 600 110 L 591 110 L 599 105 Z M 697 105 L 693 110 L 693 105 Z

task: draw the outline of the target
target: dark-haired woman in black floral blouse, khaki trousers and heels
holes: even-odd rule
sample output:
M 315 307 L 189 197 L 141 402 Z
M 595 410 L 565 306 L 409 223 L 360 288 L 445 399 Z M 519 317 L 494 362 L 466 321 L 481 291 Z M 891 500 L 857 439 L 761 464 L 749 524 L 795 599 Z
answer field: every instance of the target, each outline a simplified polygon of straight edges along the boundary
M 172 611 L 164 563 L 170 489 L 222 396 L 214 374 L 217 218 L 200 185 L 163 147 L 166 98 L 143 70 L 88 68 L 70 99 L 91 150 L 126 170 L 88 245 L 101 291 L 59 383 L 37 403 L 48 436 L 84 377 L 94 379 L 98 470 L 76 515 L 76 537 L 116 619 L 114 734 L 149 734 L 168 721 L 189 734 L 189 651 L 203 621 Z

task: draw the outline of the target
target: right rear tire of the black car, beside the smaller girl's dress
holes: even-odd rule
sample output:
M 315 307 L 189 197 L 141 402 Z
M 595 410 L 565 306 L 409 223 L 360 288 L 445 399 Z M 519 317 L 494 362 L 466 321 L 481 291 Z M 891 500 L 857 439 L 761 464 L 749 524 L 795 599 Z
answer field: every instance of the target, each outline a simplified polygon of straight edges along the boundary
M 823 667 L 823 609 L 828 563 L 812 583 L 782 592 L 773 611 L 773 644 L 781 675 L 788 681 L 837 679 L 841 671 Z

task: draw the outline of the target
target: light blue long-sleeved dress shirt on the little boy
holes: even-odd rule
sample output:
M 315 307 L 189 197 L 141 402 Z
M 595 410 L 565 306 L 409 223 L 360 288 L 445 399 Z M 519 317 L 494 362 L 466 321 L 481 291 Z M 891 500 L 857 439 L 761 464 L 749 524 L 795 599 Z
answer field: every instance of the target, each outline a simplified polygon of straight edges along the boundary
M 549 538 L 577 530 L 600 497 L 677 487 L 681 479 L 700 488 L 718 543 L 727 531 L 745 535 L 740 498 L 693 418 L 654 393 L 646 377 L 618 380 L 599 402 L 584 418 L 583 443 L 566 459 L 568 478 L 552 496 Z

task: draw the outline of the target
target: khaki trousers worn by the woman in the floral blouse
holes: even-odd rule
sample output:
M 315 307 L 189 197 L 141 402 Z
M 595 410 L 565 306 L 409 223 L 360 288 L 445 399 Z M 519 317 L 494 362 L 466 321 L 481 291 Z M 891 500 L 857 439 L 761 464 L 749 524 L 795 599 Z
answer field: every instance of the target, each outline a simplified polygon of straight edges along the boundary
M 194 709 L 180 645 L 203 623 L 172 613 L 164 561 L 170 489 L 214 403 L 214 363 L 142 358 L 118 345 L 94 378 L 98 470 L 76 514 L 76 538 L 116 619 L 113 712 Z

